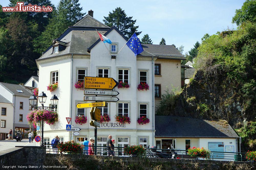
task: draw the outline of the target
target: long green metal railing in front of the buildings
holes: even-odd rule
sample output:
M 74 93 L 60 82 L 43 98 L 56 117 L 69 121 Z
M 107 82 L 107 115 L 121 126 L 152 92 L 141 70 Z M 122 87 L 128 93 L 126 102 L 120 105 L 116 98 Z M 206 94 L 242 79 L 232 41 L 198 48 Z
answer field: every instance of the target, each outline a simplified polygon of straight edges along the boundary
M 78 154 L 74 152 L 63 152 L 61 153 L 58 148 L 52 147 L 53 144 L 46 144 L 46 153 L 52 154 Z M 56 144 L 55 144 L 56 145 Z M 86 155 L 94 155 L 97 152 L 97 155 L 101 156 L 138 156 L 135 154 L 125 154 L 124 147 L 111 147 L 113 148 L 113 152 L 110 151 L 110 147 L 107 146 L 85 146 L 87 149 L 83 149 L 82 153 Z M 89 149 L 90 148 L 90 149 Z M 191 157 L 187 154 L 187 150 L 177 150 L 177 149 L 152 149 L 148 147 L 144 147 L 145 154 L 139 155 L 145 158 L 167 158 L 167 159 L 206 159 L 201 157 Z M 246 153 L 242 152 L 210 152 L 210 157 L 208 160 L 223 160 L 223 161 L 247 161 Z

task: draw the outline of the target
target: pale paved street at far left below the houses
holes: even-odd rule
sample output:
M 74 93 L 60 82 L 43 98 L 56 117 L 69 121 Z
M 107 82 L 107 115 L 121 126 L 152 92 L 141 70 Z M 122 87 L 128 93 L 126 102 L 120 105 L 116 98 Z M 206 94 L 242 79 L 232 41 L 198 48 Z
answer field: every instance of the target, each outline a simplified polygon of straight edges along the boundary
M 34 140 L 33 143 L 29 143 L 28 139 L 23 139 L 21 141 L 16 141 L 16 140 L 0 140 L 0 151 L 13 148 L 15 146 L 36 146 L 36 142 Z

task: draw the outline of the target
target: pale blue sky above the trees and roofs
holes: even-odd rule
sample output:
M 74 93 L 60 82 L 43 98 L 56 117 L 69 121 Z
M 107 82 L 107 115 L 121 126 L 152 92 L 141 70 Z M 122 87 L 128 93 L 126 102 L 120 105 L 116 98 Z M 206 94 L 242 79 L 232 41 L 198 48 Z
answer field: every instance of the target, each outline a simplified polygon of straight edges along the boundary
M 59 0 L 51 2 L 57 6 Z M 196 41 L 201 42 L 206 33 L 212 35 L 227 28 L 236 29 L 236 24 L 231 23 L 232 17 L 244 0 L 80 0 L 79 3 L 82 12 L 88 14 L 93 10 L 93 17 L 101 22 L 103 16 L 121 7 L 128 17 L 136 19 L 135 25 L 142 31 L 139 38 L 149 34 L 153 44 L 159 44 L 163 37 L 166 45 L 183 45 L 185 54 Z M 9 1 L 1 0 L 1 5 L 8 6 Z

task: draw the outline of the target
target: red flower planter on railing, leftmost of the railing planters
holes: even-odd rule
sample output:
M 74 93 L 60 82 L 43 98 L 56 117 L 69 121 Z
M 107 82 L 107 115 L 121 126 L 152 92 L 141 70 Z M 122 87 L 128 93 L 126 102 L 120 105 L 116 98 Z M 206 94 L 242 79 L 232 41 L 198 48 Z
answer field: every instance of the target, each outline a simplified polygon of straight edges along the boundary
M 71 141 L 58 143 L 57 148 L 60 152 L 70 152 L 71 154 L 82 154 L 84 145 L 81 145 L 78 142 L 72 143 Z

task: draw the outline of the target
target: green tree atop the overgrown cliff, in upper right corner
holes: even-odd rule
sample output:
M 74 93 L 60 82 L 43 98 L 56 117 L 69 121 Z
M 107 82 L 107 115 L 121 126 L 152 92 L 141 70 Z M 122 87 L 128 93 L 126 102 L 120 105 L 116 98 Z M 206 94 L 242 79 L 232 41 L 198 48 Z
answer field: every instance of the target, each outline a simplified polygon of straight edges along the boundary
M 243 3 L 241 9 L 236 9 L 236 14 L 232 18 L 232 23 L 240 25 L 242 22 L 256 22 L 256 1 L 247 0 Z

